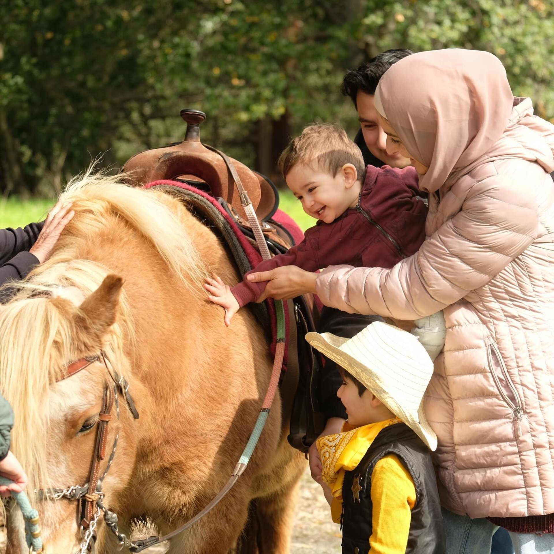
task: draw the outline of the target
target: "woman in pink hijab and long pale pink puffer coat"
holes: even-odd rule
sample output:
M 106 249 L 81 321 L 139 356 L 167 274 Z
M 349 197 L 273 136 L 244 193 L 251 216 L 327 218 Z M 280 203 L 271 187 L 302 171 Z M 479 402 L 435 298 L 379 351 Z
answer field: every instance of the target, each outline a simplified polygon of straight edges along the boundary
M 554 126 L 514 98 L 497 58 L 471 50 L 398 61 L 375 105 L 387 151 L 411 158 L 429 193 L 422 247 L 392 269 L 253 279 L 273 279 L 269 296 L 314 291 L 348 312 L 443 309 L 424 408 L 448 552 L 490 552 L 490 537 L 466 543 L 484 518 L 510 531 L 516 553 L 554 552 Z

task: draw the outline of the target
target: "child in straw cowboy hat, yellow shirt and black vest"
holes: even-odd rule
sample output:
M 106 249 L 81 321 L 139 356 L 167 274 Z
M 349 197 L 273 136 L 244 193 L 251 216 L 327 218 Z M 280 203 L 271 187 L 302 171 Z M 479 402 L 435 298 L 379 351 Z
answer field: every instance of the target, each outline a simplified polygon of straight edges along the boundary
M 352 338 L 308 333 L 340 367 L 343 432 L 317 440 L 342 552 L 444 554 L 440 500 L 422 398 L 433 362 L 416 337 L 375 322 Z

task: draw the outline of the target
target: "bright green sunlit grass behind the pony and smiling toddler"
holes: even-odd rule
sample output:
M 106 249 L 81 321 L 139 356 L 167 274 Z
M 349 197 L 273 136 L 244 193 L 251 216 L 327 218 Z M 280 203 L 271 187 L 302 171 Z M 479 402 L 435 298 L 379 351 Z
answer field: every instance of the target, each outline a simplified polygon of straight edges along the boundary
M 28 223 L 42 221 L 53 205 L 52 200 L 20 200 L 14 196 L 0 200 L 0 228 L 24 227 Z M 315 219 L 304 213 L 302 205 L 289 189 L 279 191 L 279 208 L 288 213 L 303 231 L 315 225 Z

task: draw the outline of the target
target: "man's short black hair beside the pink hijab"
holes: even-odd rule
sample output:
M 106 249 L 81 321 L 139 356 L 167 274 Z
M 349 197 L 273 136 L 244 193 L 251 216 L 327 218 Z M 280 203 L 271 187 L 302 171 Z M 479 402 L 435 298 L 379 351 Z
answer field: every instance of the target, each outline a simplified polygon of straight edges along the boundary
M 381 79 L 384 72 L 391 65 L 396 64 L 398 60 L 406 58 L 410 54 L 413 54 L 412 50 L 406 48 L 386 50 L 386 52 L 382 52 L 370 61 L 360 65 L 358 69 L 351 69 L 342 79 L 341 93 L 350 96 L 352 102 L 354 102 L 354 107 L 358 109 L 356 105 L 358 91 L 375 94 L 379 79 Z

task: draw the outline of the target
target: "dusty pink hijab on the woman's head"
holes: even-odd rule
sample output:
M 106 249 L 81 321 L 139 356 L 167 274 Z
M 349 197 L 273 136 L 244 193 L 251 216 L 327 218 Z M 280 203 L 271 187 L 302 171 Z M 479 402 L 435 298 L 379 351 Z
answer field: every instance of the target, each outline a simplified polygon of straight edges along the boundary
M 479 50 L 433 50 L 397 61 L 381 78 L 375 107 L 418 161 L 419 188 L 434 192 L 450 173 L 500 139 L 514 95 L 500 60 Z

